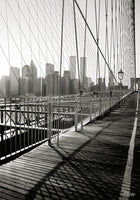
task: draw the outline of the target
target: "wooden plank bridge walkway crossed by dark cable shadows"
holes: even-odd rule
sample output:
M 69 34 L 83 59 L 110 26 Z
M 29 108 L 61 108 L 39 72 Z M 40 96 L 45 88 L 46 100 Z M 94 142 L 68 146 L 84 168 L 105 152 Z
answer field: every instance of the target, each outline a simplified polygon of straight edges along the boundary
M 118 199 L 134 129 L 136 95 L 83 131 L 60 136 L 60 145 L 43 144 L 0 166 L 0 199 Z M 140 117 L 135 138 L 131 189 L 126 197 L 139 199 Z M 129 175 L 127 177 L 129 182 Z M 127 198 L 126 198 L 127 199 Z

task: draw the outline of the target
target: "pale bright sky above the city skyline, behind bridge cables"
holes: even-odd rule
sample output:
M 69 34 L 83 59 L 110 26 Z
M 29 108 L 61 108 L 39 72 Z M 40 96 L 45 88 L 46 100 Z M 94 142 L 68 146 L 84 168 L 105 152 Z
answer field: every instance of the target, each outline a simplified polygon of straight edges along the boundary
M 1 2 L 1 29 L 0 29 L 0 41 L 2 45 L 1 49 L 1 74 L 8 75 L 9 67 L 22 67 L 29 63 L 31 59 L 34 60 L 38 68 L 38 75 L 40 77 L 44 76 L 45 68 L 44 64 L 46 62 L 52 63 L 55 66 L 55 70 L 60 70 L 60 36 L 61 36 L 61 11 L 62 11 L 62 2 L 57 2 L 53 0 L 51 2 L 43 0 L 36 5 L 36 3 L 29 1 L 29 7 L 27 7 L 26 1 L 20 1 L 17 4 L 17 1 L 11 3 L 4 0 Z M 85 13 L 85 2 L 79 0 L 78 3 Z M 108 22 L 111 23 L 111 13 L 110 13 L 110 3 L 109 1 L 109 15 Z M 98 5 L 97 5 L 98 6 Z M 38 8 L 38 13 L 35 11 L 35 7 Z M 105 3 L 101 3 L 101 25 L 100 25 L 100 40 L 99 46 L 103 51 L 104 55 L 104 46 L 105 46 Z M 22 8 L 22 9 L 21 9 Z M 27 9 L 28 8 L 28 9 Z M 95 29 L 95 16 L 91 12 L 94 8 L 94 4 L 91 0 L 88 1 L 88 17 L 87 21 L 91 27 L 92 33 L 96 38 L 96 29 Z M 7 16 L 6 10 L 7 9 Z M 14 13 L 13 13 L 14 11 Z M 41 12 L 42 11 L 42 12 Z M 79 15 L 78 10 L 76 9 L 76 18 L 77 18 L 77 36 L 78 36 L 78 50 L 79 50 L 79 59 L 84 57 L 84 42 L 80 40 L 84 39 L 85 34 L 85 23 L 82 17 Z M 65 3 L 65 19 L 64 19 L 64 37 L 63 37 L 63 51 L 62 51 L 62 71 L 68 70 L 69 59 L 68 55 L 76 55 L 75 47 L 75 33 L 74 33 L 74 21 L 73 19 L 73 5 L 72 1 L 67 1 Z M 92 20 L 91 20 L 92 19 Z M 8 22 L 6 25 L 5 22 Z M 22 26 L 19 26 L 18 22 Z M 37 26 L 38 25 L 38 26 Z M 8 30 L 7 30 L 8 27 Z M 108 30 L 109 36 L 111 30 Z M 89 31 L 87 30 L 86 38 L 86 57 L 88 59 L 88 68 L 87 76 L 90 76 L 94 82 L 98 77 L 97 69 L 97 46 L 94 43 Z M 110 43 L 109 43 L 110 46 Z M 111 51 L 111 49 L 110 49 Z M 110 53 L 111 55 L 111 53 Z M 120 56 L 120 52 L 119 52 Z M 113 70 L 113 56 L 110 58 L 111 69 L 115 73 L 116 79 L 118 79 L 118 68 L 120 68 L 120 61 L 116 65 L 116 70 Z M 77 63 L 77 58 L 76 58 Z M 106 76 L 106 79 L 109 80 L 108 69 L 105 69 L 105 63 L 103 58 L 100 55 L 100 76 Z M 77 66 L 78 67 L 78 66 Z M 77 70 L 77 69 L 76 69 Z M 106 73 L 106 74 L 105 74 Z M 127 73 L 126 78 L 128 76 Z M 77 75 L 77 72 L 76 72 Z M 97 77 L 96 77 L 97 76 Z

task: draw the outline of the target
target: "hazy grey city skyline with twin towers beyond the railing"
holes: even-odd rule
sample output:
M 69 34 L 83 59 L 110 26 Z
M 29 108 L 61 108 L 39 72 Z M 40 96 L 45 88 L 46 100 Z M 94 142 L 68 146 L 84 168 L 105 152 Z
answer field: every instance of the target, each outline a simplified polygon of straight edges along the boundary
M 38 69 L 33 60 L 31 60 L 30 64 L 22 66 L 21 71 L 20 68 L 11 66 L 9 75 L 4 75 L 0 79 L 0 84 L 2 85 L 2 87 L 0 85 L 1 96 L 14 97 L 26 94 L 37 96 L 50 94 L 57 96 L 59 94 L 76 94 L 79 90 L 87 90 L 92 80 L 86 76 L 85 60 L 86 57 L 81 57 L 80 77 L 77 78 L 76 74 L 73 73 L 76 72 L 76 56 L 70 56 L 69 70 L 63 71 L 61 80 L 60 72 L 56 71 L 51 63 L 45 64 L 44 77 L 38 76 Z

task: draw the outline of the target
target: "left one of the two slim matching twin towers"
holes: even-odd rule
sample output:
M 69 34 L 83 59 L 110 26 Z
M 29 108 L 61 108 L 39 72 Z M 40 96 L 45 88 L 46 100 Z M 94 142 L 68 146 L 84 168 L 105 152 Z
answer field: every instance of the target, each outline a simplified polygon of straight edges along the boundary
M 76 56 L 69 57 L 70 78 L 76 79 Z

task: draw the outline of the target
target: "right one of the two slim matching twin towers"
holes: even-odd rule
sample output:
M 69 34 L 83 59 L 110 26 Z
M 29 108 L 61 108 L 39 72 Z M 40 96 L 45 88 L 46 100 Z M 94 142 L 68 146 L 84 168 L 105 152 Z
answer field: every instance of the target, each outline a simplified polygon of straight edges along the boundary
M 80 58 L 80 83 L 81 88 L 84 88 L 84 81 L 86 78 L 86 72 L 87 72 L 87 63 L 86 63 L 86 57 Z

